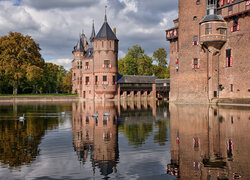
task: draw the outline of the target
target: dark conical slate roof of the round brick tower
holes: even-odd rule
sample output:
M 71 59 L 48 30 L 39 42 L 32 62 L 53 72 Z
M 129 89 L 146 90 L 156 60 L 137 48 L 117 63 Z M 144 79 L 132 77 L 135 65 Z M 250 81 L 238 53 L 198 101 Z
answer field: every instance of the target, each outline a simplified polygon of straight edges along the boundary
M 112 29 L 110 28 L 108 22 L 104 22 L 100 31 L 96 35 L 95 39 L 111 39 L 118 40 Z

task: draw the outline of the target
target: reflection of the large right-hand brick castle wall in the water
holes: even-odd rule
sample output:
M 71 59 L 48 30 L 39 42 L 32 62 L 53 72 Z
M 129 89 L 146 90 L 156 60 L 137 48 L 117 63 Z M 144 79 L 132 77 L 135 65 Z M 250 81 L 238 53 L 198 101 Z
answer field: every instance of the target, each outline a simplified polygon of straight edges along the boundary
M 171 164 L 180 179 L 249 179 L 250 111 L 170 105 Z

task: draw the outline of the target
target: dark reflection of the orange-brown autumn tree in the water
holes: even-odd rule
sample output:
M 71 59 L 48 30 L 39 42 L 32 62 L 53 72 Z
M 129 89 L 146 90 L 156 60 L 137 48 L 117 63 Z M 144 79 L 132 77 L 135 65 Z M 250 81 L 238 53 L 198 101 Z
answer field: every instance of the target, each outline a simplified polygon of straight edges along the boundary
M 25 123 L 0 121 L 0 162 L 9 167 L 31 163 L 39 154 L 38 145 L 48 129 L 58 125 L 57 118 L 27 117 Z

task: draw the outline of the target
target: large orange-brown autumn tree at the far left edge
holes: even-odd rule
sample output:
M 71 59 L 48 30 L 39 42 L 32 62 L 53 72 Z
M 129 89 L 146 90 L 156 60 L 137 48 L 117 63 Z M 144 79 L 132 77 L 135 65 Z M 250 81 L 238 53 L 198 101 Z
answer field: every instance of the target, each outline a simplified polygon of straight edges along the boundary
M 28 35 L 10 32 L 0 38 L 0 70 L 11 82 L 14 95 L 18 93 L 18 86 L 26 78 L 30 66 L 43 67 L 39 51 L 39 44 Z

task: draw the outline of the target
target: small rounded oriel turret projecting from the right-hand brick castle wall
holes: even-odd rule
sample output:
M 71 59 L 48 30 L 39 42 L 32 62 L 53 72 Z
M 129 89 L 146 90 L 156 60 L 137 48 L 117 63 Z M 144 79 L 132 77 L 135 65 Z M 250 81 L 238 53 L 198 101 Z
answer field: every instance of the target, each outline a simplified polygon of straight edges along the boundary
M 227 26 L 221 15 L 217 15 L 217 0 L 207 0 L 207 15 L 200 21 L 200 42 L 220 49 L 227 39 Z

